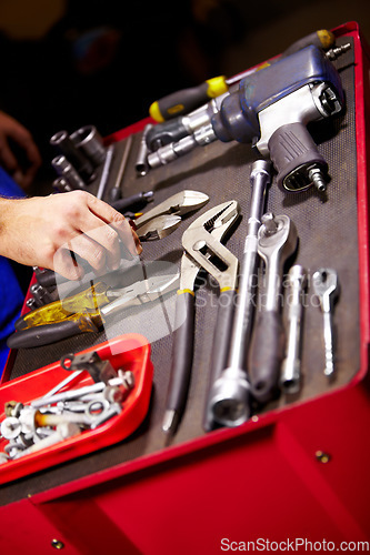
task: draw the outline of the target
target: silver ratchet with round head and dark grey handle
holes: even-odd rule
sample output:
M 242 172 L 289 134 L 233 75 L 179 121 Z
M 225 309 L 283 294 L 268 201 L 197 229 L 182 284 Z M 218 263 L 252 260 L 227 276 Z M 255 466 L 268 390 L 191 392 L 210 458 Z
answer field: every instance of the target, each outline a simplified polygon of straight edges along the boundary
M 252 394 L 267 403 L 277 393 L 280 367 L 284 356 L 284 330 L 281 315 L 282 270 L 297 249 L 297 230 L 287 215 L 262 216 L 258 232 L 258 253 L 264 261 L 266 287 L 256 322 L 250 352 Z

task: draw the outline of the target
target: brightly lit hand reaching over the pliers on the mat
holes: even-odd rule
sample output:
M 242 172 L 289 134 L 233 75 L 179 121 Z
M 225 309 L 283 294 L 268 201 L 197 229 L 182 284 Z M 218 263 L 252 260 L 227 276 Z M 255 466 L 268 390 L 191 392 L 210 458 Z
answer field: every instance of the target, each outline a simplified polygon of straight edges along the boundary
M 0 254 L 21 264 L 78 280 L 83 269 L 72 251 L 98 274 L 106 273 L 120 265 L 119 240 L 132 255 L 142 251 L 124 216 L 86 191 L 0 199 Z

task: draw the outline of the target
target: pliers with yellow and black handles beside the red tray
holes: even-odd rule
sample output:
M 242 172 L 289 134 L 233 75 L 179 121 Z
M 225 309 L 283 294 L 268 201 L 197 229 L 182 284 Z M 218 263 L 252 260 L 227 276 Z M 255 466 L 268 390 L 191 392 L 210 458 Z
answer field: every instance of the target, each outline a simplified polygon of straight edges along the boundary
M 179 275 L 154 275 L 121 289 L 103 283 L 77 295 L 43 305 L 17 321 L 18 331 L 8 339 L 10 349 L 54 343 L 77 333 L 97 332 L 106 319 L 130 306 L 153 302 L 178 287 Z

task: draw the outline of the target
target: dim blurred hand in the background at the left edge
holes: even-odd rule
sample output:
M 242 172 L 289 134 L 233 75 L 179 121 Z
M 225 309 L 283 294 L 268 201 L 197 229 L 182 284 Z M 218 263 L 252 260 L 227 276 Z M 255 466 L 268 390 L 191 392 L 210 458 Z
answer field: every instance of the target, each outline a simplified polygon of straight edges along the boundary
M 24 151 L 26 164 L 22 167 L 11 150 L 12 140 Z M 22 188 L 28 189 L 41 165 L 41 155 L 31 133 L 10 115 L 0 111 L 0 164 Z

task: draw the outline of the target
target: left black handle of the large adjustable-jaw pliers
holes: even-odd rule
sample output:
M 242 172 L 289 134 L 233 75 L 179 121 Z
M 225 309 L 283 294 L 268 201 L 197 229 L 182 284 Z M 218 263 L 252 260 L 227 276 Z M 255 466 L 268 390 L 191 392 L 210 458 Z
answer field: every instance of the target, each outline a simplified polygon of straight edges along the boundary
M 194 295 L 178 294 L 176 300 L 172 366 L 167 410 L 182 413 L 189 390 L 194 342 Z

